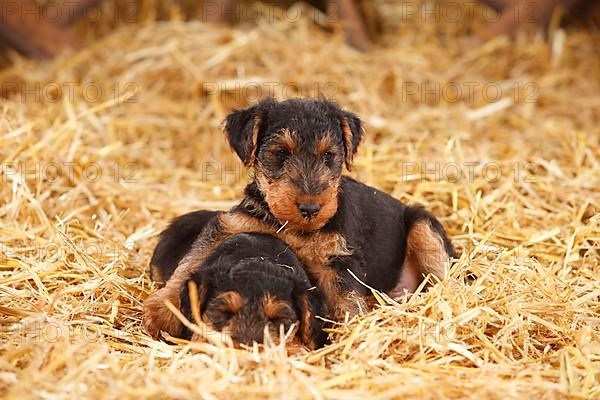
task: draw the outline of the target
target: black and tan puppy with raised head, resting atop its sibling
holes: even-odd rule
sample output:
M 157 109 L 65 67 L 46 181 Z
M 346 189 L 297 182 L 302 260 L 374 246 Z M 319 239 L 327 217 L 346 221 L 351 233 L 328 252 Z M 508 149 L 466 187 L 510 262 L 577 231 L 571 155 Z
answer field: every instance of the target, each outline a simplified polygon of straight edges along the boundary
M 455 253 L 435 217 L 342 176 L 363 135 L 356 115 L 326 100 L 266 99 L 230 114 L 223 130 L 254 181 L 239 205 L 209 221 L 165 287 L 146 299 L 151 334 L 178 335 L 181 324 L 164 301 L 178 305 L 196 267 L 242 232 L 272 234 L 290 246 L 337 320 L 357 313 L 368 293 L 355 277 L 392 297 L 414 291 L 426 275 L 445 277 Z

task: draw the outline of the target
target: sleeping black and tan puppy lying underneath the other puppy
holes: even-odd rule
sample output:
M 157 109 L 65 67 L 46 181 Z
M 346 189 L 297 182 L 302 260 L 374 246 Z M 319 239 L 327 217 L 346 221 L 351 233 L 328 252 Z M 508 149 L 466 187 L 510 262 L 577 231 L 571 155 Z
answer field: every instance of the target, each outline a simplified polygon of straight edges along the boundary
M 161 234 L 151 261 L 151 276 L 168 280 L 193 240 L 216 211 L 196 211 L 175 219 Z M 304 266 L 281 240 L 263 234 L 238 234 L 221 243 L 191 274 L 198 288 L 198 309 L 212 329 L 231 336 L 235 343 L 262 343 L 265 328 L 272 338 L 280 329 L 295 325 L 295 340 L 310 349 L 327 339 L 325 302 L 312 287 Z M 183 285 L 180 309 L 194 321 L 189 285 Z M 184 329 L 181 336 L 197 340 Z

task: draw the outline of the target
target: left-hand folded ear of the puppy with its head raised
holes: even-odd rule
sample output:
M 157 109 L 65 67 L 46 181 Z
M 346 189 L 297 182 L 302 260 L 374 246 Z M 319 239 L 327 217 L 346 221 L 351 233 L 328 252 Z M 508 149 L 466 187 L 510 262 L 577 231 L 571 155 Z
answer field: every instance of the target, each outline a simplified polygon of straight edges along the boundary
M 261 100 L 255 106 L 235 110 L 223 122 L 223 134 L 245 166 L 251 167 L 256 160 L 261 124 L 267 109 L 275 104 L 271 98 Z

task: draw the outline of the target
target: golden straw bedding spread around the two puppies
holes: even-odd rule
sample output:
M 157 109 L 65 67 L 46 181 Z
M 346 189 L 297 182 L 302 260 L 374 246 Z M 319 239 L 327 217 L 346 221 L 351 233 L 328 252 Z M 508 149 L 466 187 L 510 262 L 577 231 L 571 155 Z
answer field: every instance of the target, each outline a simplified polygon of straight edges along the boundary
M 46 92 L 1 106 L 2 397 L 600 397 L 598 31 L 475 46 L 467 22 L 378 5 L 370 54 L 310 18 L 210 27 L 151 15 L 3 72 Z M 407 95 L 407 82 L 458 84 L 462 97 Z M 472 96 L 468 83 L 480 84 Z M 156 235 L 240 198 L 247 174 L 219 123 L 267 84 L 278 98 L 319 88 L 361 115 L 353 175 L 426 205 L 460 258 L 448 279 L 382 298 L 315 352 L 152 341 L 140 316 Z

